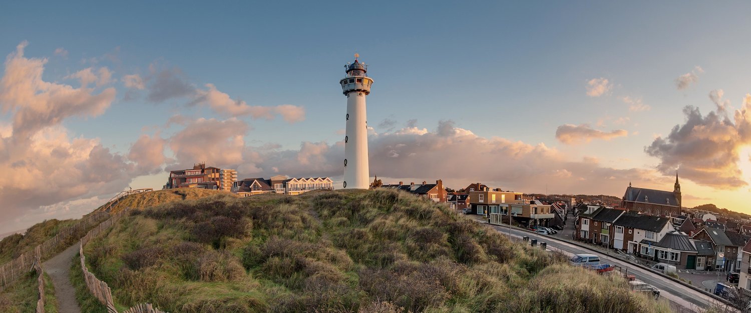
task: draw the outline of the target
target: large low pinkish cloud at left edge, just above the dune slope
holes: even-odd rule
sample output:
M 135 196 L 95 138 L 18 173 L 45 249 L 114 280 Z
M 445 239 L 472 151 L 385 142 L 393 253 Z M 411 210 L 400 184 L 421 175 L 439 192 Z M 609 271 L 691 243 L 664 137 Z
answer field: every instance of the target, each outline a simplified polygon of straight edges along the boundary
M 62 126 L 43 128 L 23 143 L 15 134 L 5 135 L 0 137 L 0 166 L 8 179 L 0 180 L 0 230 L 91 212 L 96 206 L 68 212 L 58 211 L 64 206 L 56 203 L 114 194 L 131 181 L 132 166 L 122 155 L 98 140 L 73 138 Z

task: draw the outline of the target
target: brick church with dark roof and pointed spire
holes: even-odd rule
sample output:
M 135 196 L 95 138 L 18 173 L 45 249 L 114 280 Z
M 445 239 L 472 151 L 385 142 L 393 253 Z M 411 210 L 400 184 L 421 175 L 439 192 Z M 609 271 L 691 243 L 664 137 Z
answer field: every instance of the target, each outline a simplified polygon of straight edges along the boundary
M 626 194 L 620 206 L 629 211 L 638 211 L 650 215 L 681 214 L 680 209 L 680 183 L 678 173 L 675 173 L 675 185 L 673 191 L 662 191 L 647 188 L 626 188 Z

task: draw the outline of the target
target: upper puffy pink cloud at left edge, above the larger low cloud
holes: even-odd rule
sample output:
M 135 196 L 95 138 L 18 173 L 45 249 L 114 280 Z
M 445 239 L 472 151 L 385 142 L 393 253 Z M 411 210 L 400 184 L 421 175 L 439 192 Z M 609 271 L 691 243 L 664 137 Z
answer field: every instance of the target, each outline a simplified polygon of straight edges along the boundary
M 26 45 L 26 41 L 19 44 L 5 60 L 5 74 L 0 80 L 0 106 L 5 113 L 14 113 L 14 137 L 28 138 L 70 116 L 98 116 L 110 107 L 115 98 L 111 87 L 95 94 L 86 86 L 75 89 L 42 80 L 47 59 L 26 59 Z M 100 75 L 95 81 L 104 80 Z

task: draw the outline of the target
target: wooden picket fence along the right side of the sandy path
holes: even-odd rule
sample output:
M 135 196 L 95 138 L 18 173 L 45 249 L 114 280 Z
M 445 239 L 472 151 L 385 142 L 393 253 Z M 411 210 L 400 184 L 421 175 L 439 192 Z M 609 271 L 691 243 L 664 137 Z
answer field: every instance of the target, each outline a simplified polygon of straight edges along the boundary
M 86 281 L 86 287 L 89 287 L 89 291 L 92 293 L 92 295 L 94 295 L 99 300 L 99 302 L 101 302 L 101 304 L 107 307 L 107 312 L 109 313 L 118 313 L 112 299 L 112 289 L 110 289 L 110 286 L 108 286 L 106 282 L 100 281 L 92 272 L 89 272 L 88 268 L 86 268 L 86 256 L 83 254 L 83 246 L 89 243 L 89 241 L 91 241 L 92 239 L 96 238 L 96 236 L 99 236 L 102 232 L 104 232 L 104 230 L 110 228 L 113 224 L 119 221 L 122 216 L 127 214 L 128 209 L 122 210 L 116 215 L 113 215 L 107 221 L 101 222 L 98 227 L 94 227 L 92 228 L 92 230 L 89 230 L 89 233 L 86 233 L 86 236 L 83 236 L 83 238 L 81 238 L 81 242 L 78 248 L 80 253 L 81 271 L 83 272 L 83 280 Z M 152 305 L 145 303 L 135 305 L 132 308 L 128 308 L 124 311 L 124 313 L 166 312 L 159 311 L 158 309 L 152 308 Z

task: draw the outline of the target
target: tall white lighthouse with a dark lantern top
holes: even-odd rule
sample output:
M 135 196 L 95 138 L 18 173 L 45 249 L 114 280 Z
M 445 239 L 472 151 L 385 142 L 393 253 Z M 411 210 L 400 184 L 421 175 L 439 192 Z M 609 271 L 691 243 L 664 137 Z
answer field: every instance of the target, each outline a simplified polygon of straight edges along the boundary
M 365 117 L 365 98 L 370 94 L 373 80 L 367 77 L 368 67 L 357 60 L 345 65 L 347 74 L 339 84 L 347 96 L 347 115 L 344 136 L 344 182 L 345 189 L 369 188 L 368 125 Z

